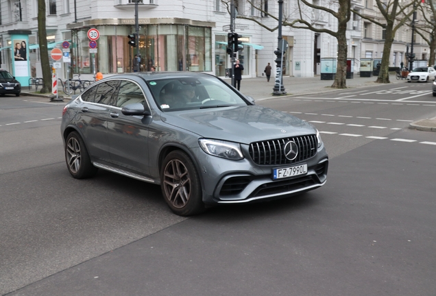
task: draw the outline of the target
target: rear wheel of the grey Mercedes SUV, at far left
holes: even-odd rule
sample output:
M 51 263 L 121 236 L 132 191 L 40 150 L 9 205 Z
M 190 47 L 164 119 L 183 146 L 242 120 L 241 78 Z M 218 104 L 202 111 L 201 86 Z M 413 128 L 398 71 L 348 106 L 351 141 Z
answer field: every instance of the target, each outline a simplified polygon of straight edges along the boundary
M 66 137 L 65 161 L 66 167 L 75 179 L 93 177 L 98 171 L 90 162 L 84 141 L 77 132 L 71 132 Z

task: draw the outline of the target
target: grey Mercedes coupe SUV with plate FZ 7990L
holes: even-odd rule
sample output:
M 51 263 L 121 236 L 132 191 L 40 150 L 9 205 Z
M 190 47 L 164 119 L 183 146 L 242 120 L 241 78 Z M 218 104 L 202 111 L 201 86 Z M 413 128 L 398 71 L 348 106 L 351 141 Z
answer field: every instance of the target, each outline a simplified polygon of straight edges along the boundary
M 158 184 L 179 215 L 289 197 L 326 183 L 318 131 L 256 106 L 204 73 L 134 73 L 96 82 L 63 109 L 66 167 Z

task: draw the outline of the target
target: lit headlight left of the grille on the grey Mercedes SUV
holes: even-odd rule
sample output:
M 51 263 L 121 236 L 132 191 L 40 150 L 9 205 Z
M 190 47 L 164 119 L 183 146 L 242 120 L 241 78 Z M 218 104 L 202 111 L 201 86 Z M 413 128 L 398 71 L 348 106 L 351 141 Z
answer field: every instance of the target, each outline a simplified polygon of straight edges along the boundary
M 199 139 L 198 143 L 204 152 L 213 156 L 230 160 L 241 160 L 244 158 L 239 143 L 204 138 Z

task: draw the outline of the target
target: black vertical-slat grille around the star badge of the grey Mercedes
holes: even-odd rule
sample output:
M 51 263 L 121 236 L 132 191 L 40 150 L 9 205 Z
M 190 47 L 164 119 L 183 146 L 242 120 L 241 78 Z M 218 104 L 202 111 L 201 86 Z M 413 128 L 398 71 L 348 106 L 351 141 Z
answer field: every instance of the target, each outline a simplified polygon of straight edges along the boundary
M 288 160 L 284 156 L 284 145 L 289 141 L 298 146 L 298 154 L 294 160 Z M 312 158 L 317 153 L 317 136 L 295 136 L 251 143 L 249 153 L 252 160 L 259 165 L 292 164 Z

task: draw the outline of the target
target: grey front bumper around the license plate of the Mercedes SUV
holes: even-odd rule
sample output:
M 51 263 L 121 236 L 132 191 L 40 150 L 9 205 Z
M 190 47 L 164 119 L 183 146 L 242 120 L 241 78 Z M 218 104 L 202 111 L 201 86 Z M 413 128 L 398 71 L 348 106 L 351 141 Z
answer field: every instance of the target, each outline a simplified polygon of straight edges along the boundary
M 289 165 L 258 165 L 250 156 L 231 161 L 210 156 L 203 151 L 195 153 L 202 175 L 203 201 L 205 204 L 243 204 L 259 200 L 280 199 L 319 188 L 326 183 L 328 155 L 324 145 L 313 156 L 303 162 L 307 173 L 296 177 L 273 180 L 272 171 Z

